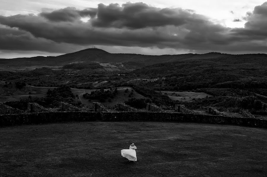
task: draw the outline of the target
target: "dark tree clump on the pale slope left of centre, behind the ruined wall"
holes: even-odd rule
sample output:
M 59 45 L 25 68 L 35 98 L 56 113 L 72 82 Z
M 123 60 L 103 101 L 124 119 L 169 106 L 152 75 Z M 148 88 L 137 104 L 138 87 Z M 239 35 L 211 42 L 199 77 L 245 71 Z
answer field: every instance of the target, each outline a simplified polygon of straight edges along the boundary
M 100 102 L 105 102 L 106 99 L 112 99 L 114 98 L 116 95 L 118 94 L 118 89 L 117 87 L 115 89 L 110 88 L 109 90 L 104 90 L 103 88 L 100 90 L 96 90 L 96 91 L 91 91 L 90 94 L 88 94 L 87 92 L 85 94 L 83 94 L 83 97 L 85 99 L 89 99 L 89 101 L 91 101 L 91 99 L 97 99 Z

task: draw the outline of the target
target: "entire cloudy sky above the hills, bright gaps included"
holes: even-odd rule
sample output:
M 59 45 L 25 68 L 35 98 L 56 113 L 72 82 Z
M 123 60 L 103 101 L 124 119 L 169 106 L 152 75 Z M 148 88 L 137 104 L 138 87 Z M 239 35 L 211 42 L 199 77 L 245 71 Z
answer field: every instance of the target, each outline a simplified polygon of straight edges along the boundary
M 0 0 L 0 58 L 110 53 L 267 53 L 260 0 Z

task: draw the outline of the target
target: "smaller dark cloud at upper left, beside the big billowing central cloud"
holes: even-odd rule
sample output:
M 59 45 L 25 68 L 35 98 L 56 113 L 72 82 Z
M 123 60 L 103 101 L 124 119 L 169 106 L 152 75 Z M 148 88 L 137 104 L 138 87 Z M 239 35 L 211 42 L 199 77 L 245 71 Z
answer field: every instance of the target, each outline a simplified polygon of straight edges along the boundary
M 65 9 L 59 9 L 59 10 L 55 10 L 53 12 L 42 12 L 39 15 L 47 18 L 50 21 L 74 22 L 75 20 L 80 20 L 81 17 L 88 17 L 88 16 L 89 17 L 95 17 L 96 16 L 96 8 L 77 10 L 74 7 L 67 7 Z

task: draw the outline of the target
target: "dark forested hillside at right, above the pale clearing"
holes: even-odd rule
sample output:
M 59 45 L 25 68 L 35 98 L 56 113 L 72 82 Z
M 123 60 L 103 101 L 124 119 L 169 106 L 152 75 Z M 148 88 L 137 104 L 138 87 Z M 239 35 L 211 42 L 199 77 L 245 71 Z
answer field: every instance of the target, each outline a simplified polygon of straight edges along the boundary
M 166 79 L 154 82 L 153 88 L 156 90 L 239 88 L 267 94 L 267 91 L 262 90 L 267 87 L 266 56 L 257 59 L 233 57 L 236 56 L 160 63 L 134 70 L 132 73 L 141 78 L 164 76 Z

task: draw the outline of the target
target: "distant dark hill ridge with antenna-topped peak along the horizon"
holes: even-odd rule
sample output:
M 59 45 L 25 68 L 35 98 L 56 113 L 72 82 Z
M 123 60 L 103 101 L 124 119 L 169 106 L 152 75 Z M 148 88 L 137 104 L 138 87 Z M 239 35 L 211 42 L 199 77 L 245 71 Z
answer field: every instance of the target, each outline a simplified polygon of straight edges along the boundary
M 188 59 L 218 59 L 218 58 L 267 58 L 266 54 L 232 55 L 211 52 L 207 54 L 178 54 L 178 55 L 142 55 L 142 54 L 112 54 L 101 49 L 85 49 L 57 57 L 30 57 L 1 59 L 0 65 L 23 66 L 63 66 L 77 62 L 121 63 L 127 69 L 138 69 L 157 63 L 179 62 Z

